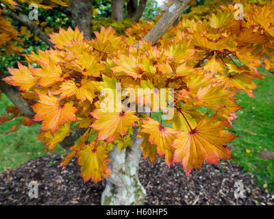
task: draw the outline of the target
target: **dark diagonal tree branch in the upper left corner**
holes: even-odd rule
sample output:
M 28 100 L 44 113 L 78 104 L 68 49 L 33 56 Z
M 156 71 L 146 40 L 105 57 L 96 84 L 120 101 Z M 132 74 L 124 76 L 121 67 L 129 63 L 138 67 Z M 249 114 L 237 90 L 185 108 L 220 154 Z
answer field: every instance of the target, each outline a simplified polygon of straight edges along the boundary
M 44 42 L 46 42 L 49 47 L 54 46 L 54 44 L 49 41 L 49 36 L 44 31 L 42 31 L 38 25 L 33 23 L 31 20 L 29 20 L 27 15 L 22 14 L 21 12 L 19 12 L 19 14 L 17 15 L 17 14 L 14 14 L 14 12 L 7 12 L 7 11 L 1 12 L 1 14 L 5 16 L 10 16 L 11 18 L 16 19 L 23 25 L 27 26 L 30 29 L 30 31 L 32 31 L 32 33 L 34 33 L 36 36 L 38 36 L 38 38 L 40 38 L 40 40 L 43 40 Z

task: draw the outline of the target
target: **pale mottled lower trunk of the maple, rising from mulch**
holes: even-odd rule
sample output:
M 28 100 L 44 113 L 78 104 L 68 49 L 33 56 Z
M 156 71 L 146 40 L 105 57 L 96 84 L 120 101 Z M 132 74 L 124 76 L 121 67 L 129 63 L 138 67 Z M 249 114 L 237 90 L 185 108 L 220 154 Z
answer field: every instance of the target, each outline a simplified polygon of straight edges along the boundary
M 120 151 L 117 146 L 110 152 L 112 173 L 106 177 L 107 184 L 101 196 L 101 205 L 143 205 L 146 191 L 138 179 L 138 166 L 142 151 L 142 138 L 136 137 L 134 129 L 132 146 Z

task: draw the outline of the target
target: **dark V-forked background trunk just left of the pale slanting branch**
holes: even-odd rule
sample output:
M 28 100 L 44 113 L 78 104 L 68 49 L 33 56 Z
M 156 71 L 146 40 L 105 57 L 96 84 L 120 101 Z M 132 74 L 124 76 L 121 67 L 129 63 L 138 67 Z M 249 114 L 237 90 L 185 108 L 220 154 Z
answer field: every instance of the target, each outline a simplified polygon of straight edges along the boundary
M 145 5 L 147 0 L 140 0 L 138 5 L 138 0 L 130 0 L 127 3 L 127 13 L 132 20 L 138 22 L 142 16 L 142 12 L 145 10 Z

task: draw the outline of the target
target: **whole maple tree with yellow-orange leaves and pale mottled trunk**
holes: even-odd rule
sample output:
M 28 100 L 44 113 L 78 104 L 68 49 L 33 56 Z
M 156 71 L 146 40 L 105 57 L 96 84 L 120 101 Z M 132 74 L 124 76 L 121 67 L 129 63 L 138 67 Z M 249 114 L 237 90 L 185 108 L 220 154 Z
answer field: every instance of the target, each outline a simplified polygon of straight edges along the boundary
M 15 1 L 2 2 L 10 8 L 16 5 Z M 51 7 L 69 5 L 68 1 L 52 3 Z M 235 113 L 241 109 L 234 95 L 242 90 L 255 97 L 252 90 L 257 86 L 253 79 L 264 79 L 257 67 L 264 66 L 270 72 L 274 69 L 274 3 L 235 1 L 245 8 L 244 20 L 235 19 L 234 5 L 226 4 L 208 19 L 195 16 L 190 20 L 189 14 L 183 14 L 181 21 L 172 25 L 188 3 L 174 1 L 171 7 L 175 5 L 175 10 L 166 10 L 156 24 L 133 23 L 125 30 L 125 36 L 117 35 L 111 26 L 95 31 L 95 38 L 86 37 L 86 24 L 75 29 L 60 27 L 58 33 L 46 39 L 51 49 L 25 55 L 28 66 L 18 62 L 18 68 L 8 68 L 10 76 L 3 81 L 16 86 L 30 107 L 14 101 L 18 108 L 7 111 L 1 120 L 24 115 L 20 124 L 42 123 L 38 138 L 47 149 L 59 143 L 69 148 L 61 165 L 66 166 L 76 156 L 84 181 L 97 183 L 106 177 L 110 180 L 107 192 L 115 186 L 117 191 L 123 186 L 139 186 L 138 180 L 125 185 L 127 181 L 121 182 L 119 177 L 138 179 L 140 151 L 151 162 L 159 155 L 167 166 L 182 164 L 186 176 L 192 168 L 201 168 L 204 161 L 218 164 L 219 159 L 232 158 L 226 143 L 236 136 L 227 128 L 233 127 Z M 113 17 L 117 16 L 121 15 Z M 5 26 L 9 39 L 19 40 L 8 21 Z M 10 41 L 1 44 L 14 52 L 21 51 Z M 117 83 L 121 83 L 121 89 L 116 89 Z M 144 97 L 138 93 L 140 88 L 154 92 Z M 164 88 L 173 88 L 173 99 L 154 107 L 155 95 L 158 99 L 164 95 L 155 89 Z M 5 92 L 1 86 L 0 89 Z M 129 89 L 135 97 L 121 95 Z M 102 103 L 108 99 L 114 99 L 112 109 L 116 111 L 102 110 Z M 129 100 L 134 108 L 145 105 L 149 112 L 135 112 L 132 107 L 125 110 Z M 173 117 L 164 121 L 171 110 Z M 157 112 L 162 115 L 160 121 L 153 119 Z M 8 117 L 10 114 L 14 116 Z M 125 154 L 130 150 L 135 157 Z M 136 170 L 119 166 L 117 159 L 135 161 L 132 163 Z M 128 173 L 130 170 L 133 174 Z M 102 203 L 116 204 L 116 199 L 106 196 L 107 192 Z M 137 192 L 138 196 L 142 193 Z M 141 199 L 128 198 L 126 204 L 142 203 Z

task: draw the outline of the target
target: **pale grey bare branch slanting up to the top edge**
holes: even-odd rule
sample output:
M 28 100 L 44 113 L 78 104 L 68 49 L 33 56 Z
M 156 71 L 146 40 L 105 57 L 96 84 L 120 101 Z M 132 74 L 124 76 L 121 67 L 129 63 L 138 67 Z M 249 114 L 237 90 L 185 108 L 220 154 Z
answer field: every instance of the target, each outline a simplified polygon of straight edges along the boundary
M 162 18 L 154 25 L 154 27 L 149 31 L 144 40 L 147 42 L 151 41 L 155 44 L 162 35 L 166 32 L 171 25 L 175 22 L 176 18 L 182 14 L 190 0 L 175 0 L 171 4 L 168 10 L 164 13 Z

